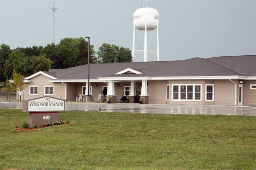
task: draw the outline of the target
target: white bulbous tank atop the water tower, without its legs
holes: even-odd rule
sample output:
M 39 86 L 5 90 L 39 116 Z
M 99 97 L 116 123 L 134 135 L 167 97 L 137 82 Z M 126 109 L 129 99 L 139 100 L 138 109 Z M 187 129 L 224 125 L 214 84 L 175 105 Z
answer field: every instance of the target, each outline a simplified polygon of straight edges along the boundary
M 156 9 L 150 7 L 139 8 L 134 11 L 133 24 L 138 30 L 154 30 L 159 22 L 159 13 Z

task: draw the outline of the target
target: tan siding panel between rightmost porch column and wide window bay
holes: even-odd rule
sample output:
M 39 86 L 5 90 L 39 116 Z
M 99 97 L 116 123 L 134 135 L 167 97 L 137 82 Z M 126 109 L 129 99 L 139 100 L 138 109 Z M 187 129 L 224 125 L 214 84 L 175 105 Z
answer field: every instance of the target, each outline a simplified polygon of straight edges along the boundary
M 148 81 L 148 103 L 166 104 L 166 80 Z

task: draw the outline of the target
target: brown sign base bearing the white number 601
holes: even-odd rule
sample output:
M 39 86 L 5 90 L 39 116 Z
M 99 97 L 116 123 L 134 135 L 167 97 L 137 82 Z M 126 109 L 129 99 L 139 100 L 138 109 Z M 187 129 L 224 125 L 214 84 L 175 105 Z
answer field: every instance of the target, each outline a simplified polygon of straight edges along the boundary
M 34 124 L 42 126 L 44 123 L 59 122 L 60 113 L 58 112 L 30 112 L 28 113 L 28 124 L 33 127 Z

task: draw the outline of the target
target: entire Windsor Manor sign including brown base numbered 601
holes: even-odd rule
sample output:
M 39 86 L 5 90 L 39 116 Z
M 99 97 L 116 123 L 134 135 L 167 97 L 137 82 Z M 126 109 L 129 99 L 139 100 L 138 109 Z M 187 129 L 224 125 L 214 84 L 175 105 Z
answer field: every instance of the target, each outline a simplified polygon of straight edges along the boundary
M 28 113 L 28 124 L 42 126 L 45 123 L 59 122 L 59 111 L 65 110 L 65 101 L 50 96 L 23 100 L 22 111 Z

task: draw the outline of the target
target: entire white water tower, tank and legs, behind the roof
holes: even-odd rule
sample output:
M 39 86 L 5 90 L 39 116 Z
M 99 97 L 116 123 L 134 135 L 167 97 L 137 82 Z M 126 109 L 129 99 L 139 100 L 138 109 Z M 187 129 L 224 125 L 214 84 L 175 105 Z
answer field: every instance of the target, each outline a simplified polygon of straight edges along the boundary
M 159 38 L 158 38 L 158 23 L 159 23 L 159 13 L 156 9 L 145 6 L 143 8 L 138 8 L 133 14 L 133 45 L 132 45 L 132 59 L 136 57 L 135 52 L 144 51 L 144 62 L 148 61 L 148 53 L 157 54 L 157 61 L 159 61 Z M 135 31 L 144 31 L 144 50 L 135 49 Z M 148 50 L 148 31 L 157 29 L 157 49 Z M 140 37 L 139 37 L 140 38 Z M 142 42 L 142 40 L 141 40 Z M 150 41 L 151 42 L 151 41 Z

